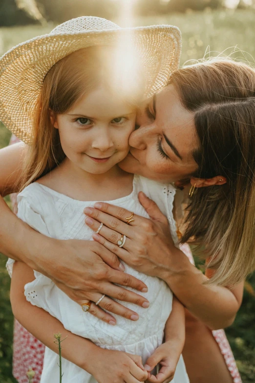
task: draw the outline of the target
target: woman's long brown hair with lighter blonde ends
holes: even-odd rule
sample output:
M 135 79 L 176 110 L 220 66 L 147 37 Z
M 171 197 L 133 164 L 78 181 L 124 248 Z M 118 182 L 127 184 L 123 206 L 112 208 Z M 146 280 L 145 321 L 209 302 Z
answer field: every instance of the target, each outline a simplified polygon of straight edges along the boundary
M 194 113 L 200 148 L 192 176 L 227 178 L 195 190 L 181 242 L 204 246 L 215 269 L 210 283 L 234 286 L 255 268 L 255 70 L 212 59 L 177 70 L 170 83 Z

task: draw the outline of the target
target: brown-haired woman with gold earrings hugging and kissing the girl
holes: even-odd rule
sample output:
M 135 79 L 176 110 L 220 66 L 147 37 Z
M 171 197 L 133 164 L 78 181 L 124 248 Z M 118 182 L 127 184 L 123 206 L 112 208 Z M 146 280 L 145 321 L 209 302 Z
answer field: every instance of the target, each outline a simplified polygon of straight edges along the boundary
M 120 266 L 117 254 L 133 268 L 164 279 L 191 314 L 204 325 L 211 329 L 221 328 L 233 322 L 241 303 L 242 280 L 254 268 L 255 240 L 251 221 L 255 212 L 253 204 L 249 203 L 254 199 L 254 70 L 233 62 L 209 62 L 176 71 L 170 82 L 167 89 L 157 94 L 154 103 L 149 102 L 147 116 L 141 113 L 138 119 L 141 126 L 130 136 L 130 145 L 134 149 L 131 149 L 131 156 L 122 167 L 151 179 L 171 178 L 179 185 L 191 182 L 198 187 L 191 199 L 188 226 L 182 240 L 186 241 L 191 236 L 198 241 L 203 240 L 207 245 L 207 255 L 217 253 L 212 265 L 217 267 L 214 281 L 228 286 L 229 281 L 234 280 L 235 284 L 239 283 L 237 287 L 231 291 L 222 286 L 204 284 L 206 277 L 190 264 L 179 249 L 173 247 L 165 217 L 144 196 L 141 196 L 141 203 L 149 212 L 151 222 L 134 217 L 132 225 L 124 225 L 122 221 L 125 221 L 127 212 L 116 211 L 105 204 L 100 209 L 115 218 L 100 212 L 99 206 L 86 211 L 86 215 L 92 218 L 92 223 L 87 221 L 87 224 L 95 231 L 100 222 L 104 224 L 101 235 L 95 239 L 112 251 L 112 257 L 106 255 L 103 247 L 88 251 L 79 241 L 62 243 L 44 238 L 19 222 L 2 202 L 1 219 L 8 224 L 1 225 L 1 250 L 35 270 L 43 271 L 79 303 L 85 299 L 96 302 L 98 295 L 104 293 L 120 297 L 112 285 L 119 275 L 116 271 Z M 162 137 L 162 142 L 158 143 L 159 137 Z M 165 155 L 157 153 L 160 148 Z M 8 169 L 1 172 L 2 195 L 15 190 L 24 151 L 24 146 L 19 144 L 2 151 L 4 166 L 9 163 Z M 171 160 L 160 156 L 170 157 Z M 240 215 L 244 211 L 246 214 Z M 17 233 L 15 243 L 8 227 Z M 125 249 L 111 243 L 112 238 L 120 235 L 119 230 L 128 238 Z M 61 254 L 59 259 L 66 268 L 62 275 L 55 270 L 57 265 L 52 263 L 51 251 Z M 98 255 L 115 270 L 102 261 L 100 263 Z M 245 258 L 241 265 L 242 255 Z M 92 270 L 92 262 L 93 277 L 86 272 Z M 141 284 L 130 282 L 124 276 L 125 284 L 142 289 Z M 122 293 L 122 299 L 131 300 L 129 292 Z M 103 302 L 101 307 L 105 308 Z M 142 304 L 142 300 L 138 303 Z M 114 302 L 107 309 L 114 312 Z M 95 305 L 91 305 L 91 313 L 104 320 L 110 317 Z M 122 315 L 130 317 L 132 313 L 124 309 Z M 208 327 L 201 327 L 202 336 L 207 334 L 207 344 L 215 344 L 209 331 L 205 330 Z M 188 350 L 191 351 L 191 346 Z M 201 355 L 202 352 L 199 358 Z M 200 360 L 205 359 L 201 357 Z M 204 376 L 196 374 L 196 366 L 189 371 L 187 363 L 191 382 L 192 379 L 193 382 L 198 382 L 198 379 L 200 382 L 210 382 L 210 379 L 211 382 L 233 381 L 224 369 L 223 360 L 215 358 L 212 362 L 215 360 L 216 365 L 207 364 L 204 371 L 199 371 L 205 372 Z M 217 368 L 217 362 L 220 367 L 218 371 L 213 371 Z

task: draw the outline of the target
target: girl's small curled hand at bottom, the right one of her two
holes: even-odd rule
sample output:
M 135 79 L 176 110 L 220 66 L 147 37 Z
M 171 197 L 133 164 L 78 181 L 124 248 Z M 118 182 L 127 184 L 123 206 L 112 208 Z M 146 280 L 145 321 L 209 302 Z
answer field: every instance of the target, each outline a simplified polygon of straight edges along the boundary
M 176 347 L 177 346 L 177 347 Z M 172 381 L 176 365 L 180 358 L 179 342 L 169 340 L 161 344 L 146 361 L 145 368 L 149 372 L 147 383 L 169 383 Z M 150 371 L 160 364 L 161 368 L 156 376 L 151 375 Z

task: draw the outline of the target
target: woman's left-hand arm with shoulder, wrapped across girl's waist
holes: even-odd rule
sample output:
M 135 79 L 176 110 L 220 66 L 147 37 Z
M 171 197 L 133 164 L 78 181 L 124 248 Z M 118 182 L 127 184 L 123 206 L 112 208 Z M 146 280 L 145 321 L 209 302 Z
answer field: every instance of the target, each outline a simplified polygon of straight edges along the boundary
M 115 285 L 147 290 L 143 282 L 121 271 L 123 266 L 115 254 L 93 241 L 85 246 L 82 240 L 60 241 L 45 237 L 12 213 L 2 196 L 17 191 L 16 181 L 26 149 L 25 144 L 18 143 L 0 150 L 0 252 L 48 276 L 76 302 L 96 302 L 106 294 L 141 306 L 148 304 L 141 295 Z M 114 300 L 104 301 L 100 305 L 103 307 L 104 302 L 107 311 L 138 319 L 136 313 Z M 106 322 L 116 322 L 99 306 L 93 305 L 91 312 Z

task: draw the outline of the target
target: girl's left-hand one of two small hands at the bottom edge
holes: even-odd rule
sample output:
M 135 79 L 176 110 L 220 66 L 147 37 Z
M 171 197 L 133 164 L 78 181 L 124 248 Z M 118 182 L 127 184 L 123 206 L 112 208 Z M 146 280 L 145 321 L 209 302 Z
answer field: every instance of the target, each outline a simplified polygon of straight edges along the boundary
M 138 355 L 102 348 L 96 354 L 98 355 L 90 363 L 91 368 L 86 368 L 86 371 L 98 383 L 139 383 L 148 378 L 142 358 Z

